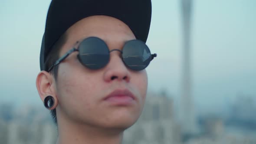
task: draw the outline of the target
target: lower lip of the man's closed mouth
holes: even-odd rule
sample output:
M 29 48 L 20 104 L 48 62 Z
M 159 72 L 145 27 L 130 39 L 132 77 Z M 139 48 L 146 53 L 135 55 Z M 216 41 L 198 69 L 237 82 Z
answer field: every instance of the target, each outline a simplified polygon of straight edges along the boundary
M 134 99 L 130 96 L 113 96 L 105 99 L 105 101 L 111 102 L 114 105 L 130 105 Z

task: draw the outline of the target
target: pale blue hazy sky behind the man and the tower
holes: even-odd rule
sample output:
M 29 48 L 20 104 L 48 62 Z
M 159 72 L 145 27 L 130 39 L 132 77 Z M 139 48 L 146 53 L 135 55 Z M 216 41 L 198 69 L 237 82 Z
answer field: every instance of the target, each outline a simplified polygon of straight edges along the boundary
M 0 2 L 0 102 L 42 104 L 36 91 L 39 52 L 50 0 Z M 196 107 L 222 108 L 236 95 L 256 96 L 256 0 L 194 0 L 191 33 Z M 179 100 L 182 34 L 179 0 L 152 0 L 147 44 L 149 92 Z

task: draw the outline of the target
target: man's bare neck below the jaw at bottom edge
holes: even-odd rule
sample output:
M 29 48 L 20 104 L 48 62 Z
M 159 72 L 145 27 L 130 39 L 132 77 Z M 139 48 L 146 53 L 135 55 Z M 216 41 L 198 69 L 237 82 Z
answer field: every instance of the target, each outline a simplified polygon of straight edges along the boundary
M 56 144 L 121 144 L 123 137 L 123 130 L 120 129 L 95 128 L 82 124 L 60 125 L 58 131 Z

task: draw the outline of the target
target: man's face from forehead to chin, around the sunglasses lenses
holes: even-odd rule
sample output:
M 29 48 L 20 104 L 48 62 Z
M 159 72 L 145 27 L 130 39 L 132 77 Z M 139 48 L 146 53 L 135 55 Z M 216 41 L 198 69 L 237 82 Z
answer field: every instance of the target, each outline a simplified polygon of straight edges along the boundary
M 104 40 L 109 50 L 122 50 L 126 41 L 135 39 L 131 29 L 120 20 L 109 16 L 90 16 L 67 30 L 67 41 L 60 56 L 69 51 L 76 41 L 90 36 Z M 128 128 L 134 124 L 144 106 L 148 85 L 146 71 L 128 69 L 118 51 L 111 52 L 108 64 L 99 70 L 83 66 L 77 54 L 73 52 L 59 64 L 56 81 L 58 122 L 66 119 L 104 128 Z M 127 91 L 135 97 L 128 103 L 105 99 L 112 92 Z

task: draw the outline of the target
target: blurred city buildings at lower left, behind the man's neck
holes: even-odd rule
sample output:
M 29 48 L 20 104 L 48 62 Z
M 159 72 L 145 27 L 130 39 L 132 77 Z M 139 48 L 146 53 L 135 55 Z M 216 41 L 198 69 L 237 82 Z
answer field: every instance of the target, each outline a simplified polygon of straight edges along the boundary
M 56 128 L 49 112 L 24 105 L 14 110 L 0 105 L 0 144 L 55 144 Z M 3 107 L 5 109 L 3 109 Z

